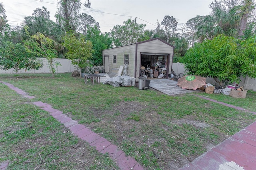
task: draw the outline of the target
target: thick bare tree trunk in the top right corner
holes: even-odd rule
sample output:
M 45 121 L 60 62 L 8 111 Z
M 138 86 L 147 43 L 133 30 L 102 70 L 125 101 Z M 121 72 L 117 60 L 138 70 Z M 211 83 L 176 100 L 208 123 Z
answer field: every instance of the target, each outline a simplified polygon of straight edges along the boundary
M 252 0 L 244 0 L 244 6 L 242 7 L 242 18 L 239 26 L 238 37 L 244 36 L 244 30 L 246 29 L 246 24 L 250 14 L 251 5 L 252 5 Z

